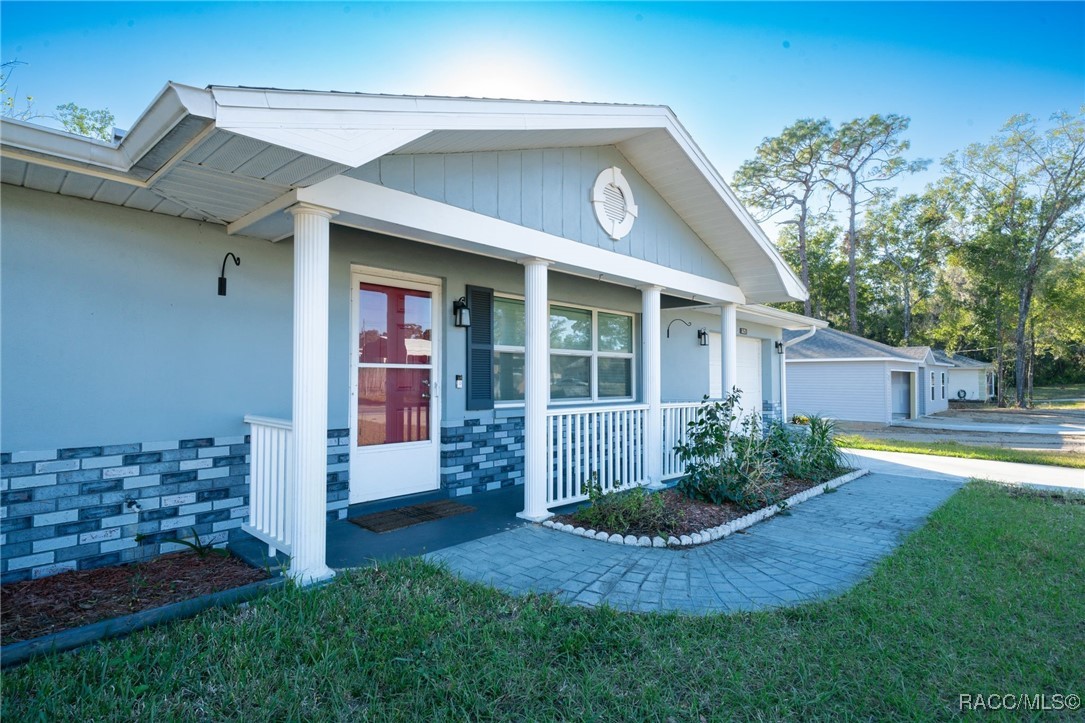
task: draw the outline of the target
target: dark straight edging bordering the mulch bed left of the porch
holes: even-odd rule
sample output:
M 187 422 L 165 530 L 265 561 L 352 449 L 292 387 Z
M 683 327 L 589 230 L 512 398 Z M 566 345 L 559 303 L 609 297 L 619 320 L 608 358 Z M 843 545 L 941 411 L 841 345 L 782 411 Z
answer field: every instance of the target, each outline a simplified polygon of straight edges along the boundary
M 75 648 L 91 645 L 99 640 L 120 637 L 143 630 L 144 627 L 151 627 L 152 625 L 158 625 L 180 618 L 191 618 L 209 608 L 244 602 L 259 597 L 271 589 L 282 587 L 283 584 L 284 580 L 282 578 L 269 578 L 242 585 L 241 587 L 231 587 L 230 589 L 202 595 L 189 600 L 164 605 L 161 608 L 142 610 L 130 616 L 101 620 L 97 623 L 72 627 L 71 630 L 64 630 L 52 635 L 43 635 L 29 640 L 12 643 L 11 645 L 0 647 L 0 668 L 18 665 L 40 655 L 74 650 Z

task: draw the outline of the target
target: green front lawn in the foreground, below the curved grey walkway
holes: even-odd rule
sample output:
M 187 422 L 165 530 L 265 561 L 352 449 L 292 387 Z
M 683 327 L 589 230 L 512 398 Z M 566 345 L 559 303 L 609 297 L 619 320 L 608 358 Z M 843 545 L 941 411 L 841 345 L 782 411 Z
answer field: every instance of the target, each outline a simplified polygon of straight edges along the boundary
M 8 671 L 3 715 L 942 719 L 1085 693 L 1083 559 L 1081 499 L 973 483 L 852 592 L 775 612 L 574 608 L 407 560 Z

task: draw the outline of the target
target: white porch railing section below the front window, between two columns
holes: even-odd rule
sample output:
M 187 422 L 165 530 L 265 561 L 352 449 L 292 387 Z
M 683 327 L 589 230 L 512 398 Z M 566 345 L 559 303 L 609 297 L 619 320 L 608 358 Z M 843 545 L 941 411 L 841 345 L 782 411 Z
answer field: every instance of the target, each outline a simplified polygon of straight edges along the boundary
M 603 492 L 643 484 L 647 410 L 647 405 L 549 410 L 547 507 L 587 499 L 592 477 Z

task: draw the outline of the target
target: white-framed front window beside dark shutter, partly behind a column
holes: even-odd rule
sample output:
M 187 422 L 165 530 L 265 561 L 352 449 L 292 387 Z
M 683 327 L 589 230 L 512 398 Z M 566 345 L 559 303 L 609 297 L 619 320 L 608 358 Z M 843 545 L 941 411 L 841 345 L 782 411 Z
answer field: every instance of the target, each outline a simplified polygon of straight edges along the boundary
M 524 398 L 524 302 L 494 299 L 494 401 Z M 634 397 L 633 315 L 551 304 L 550 401 Z

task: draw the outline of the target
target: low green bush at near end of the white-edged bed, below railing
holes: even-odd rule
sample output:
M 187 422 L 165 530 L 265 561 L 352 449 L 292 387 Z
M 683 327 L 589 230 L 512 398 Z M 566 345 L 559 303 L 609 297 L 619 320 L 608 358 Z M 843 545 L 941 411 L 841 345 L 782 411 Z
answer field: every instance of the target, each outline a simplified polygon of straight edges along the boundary
M 589 505 L 572 517 L 577 524 L 623 534 L 663 535 L 674 532 L 682 522 L 681 515 L 666 508 L 662 495 L 644 487 L 604 493 L 592 473 L 586 485 Z M 615 483 L 615 487 L 621 483 Z

